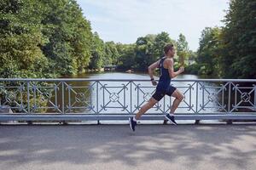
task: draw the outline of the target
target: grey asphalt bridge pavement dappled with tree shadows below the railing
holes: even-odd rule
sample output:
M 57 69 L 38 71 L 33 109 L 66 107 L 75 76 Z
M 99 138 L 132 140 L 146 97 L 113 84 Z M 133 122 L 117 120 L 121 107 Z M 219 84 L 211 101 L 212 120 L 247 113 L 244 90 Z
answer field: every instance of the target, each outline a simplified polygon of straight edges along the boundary
M 1 170 L 256 169 L 256 125 L 1 125 Z

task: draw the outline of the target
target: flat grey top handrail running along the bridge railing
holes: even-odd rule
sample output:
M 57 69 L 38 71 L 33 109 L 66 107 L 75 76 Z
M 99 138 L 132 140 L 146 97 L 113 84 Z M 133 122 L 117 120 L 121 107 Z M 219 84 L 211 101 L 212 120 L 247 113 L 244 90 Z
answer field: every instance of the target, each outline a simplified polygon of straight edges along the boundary
M 150 79 L 91 79 L 91 78 L 0 78 L 1 82 L 149 82 Z M 158 81 L 158 79 L 156 79 Z M 172 79 L 173 82 L 256 82 L 256 79 Z

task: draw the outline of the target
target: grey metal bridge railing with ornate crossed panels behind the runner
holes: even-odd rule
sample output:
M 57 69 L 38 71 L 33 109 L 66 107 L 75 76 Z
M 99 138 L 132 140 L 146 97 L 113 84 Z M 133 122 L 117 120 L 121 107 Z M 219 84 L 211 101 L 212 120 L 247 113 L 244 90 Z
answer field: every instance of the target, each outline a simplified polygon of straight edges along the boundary
M 184 95 L 177 119 L 256 120 L 256 80 L 174 79 Z M 1 120 L 125 120 L 154 94 L 140 79 L 0 79 Z M 165 96 L 143 119 L 159 120 L 170 111 Z

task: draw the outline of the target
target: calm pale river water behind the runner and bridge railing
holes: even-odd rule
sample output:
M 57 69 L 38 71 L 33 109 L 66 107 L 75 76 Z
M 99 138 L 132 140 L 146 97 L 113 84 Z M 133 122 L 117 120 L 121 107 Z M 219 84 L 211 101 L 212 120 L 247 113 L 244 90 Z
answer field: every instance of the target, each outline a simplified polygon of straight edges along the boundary
M 151 82 L 129 82 L 130 79 L 148 80 L 148 74 L 145 73 L 123 73 L 123 72 L 101 72 L 80 74 L 68 78 L 89 78 L 102 80 L 104 82 L 68 82 L 70 92 L 66 93 L 65 106 L 71 108 L 66 112 L 72 113 L 124 113 L 135 114 L 138 109 L 150 99 L 154 94 L 155 87 Z M 195 75 L 179 75 L 177 79 L 198 79 Z M 112 82 L 107 80 L 127 80 L 123 82 Z M 157 79 L 157 77 L 156 77 Z M 177 109 L 177 113 L 209 113 L 217 111 L 218 104 L 214 101 L 214 94 L 217 89 L 213 83 L 201 82 L 196 92 L 195 82 L 175 82 L 172 85 L 177 87 L 185 99 Z M 61 91 L 59 92 L 61 93 Z M 203 94 L 205 96 L 203 96 Z M 60 94 L 61 95 L 61 94 Z M 209 97 L 212 95 L 212 98 Z M 215 97 L 216 98 L 216 97 Z M 218 100 L 218 99 L 217 99 Z M 164 99 L 150 109 L 147 113 L 166 113 L 170 111 L 173 98 L 166 96 Z M 61 102 L 61 101 L 60 101 Z M 60 103 L 59 102 L 59 103 Z M 204 105 L 201 107 L 201 105 Z

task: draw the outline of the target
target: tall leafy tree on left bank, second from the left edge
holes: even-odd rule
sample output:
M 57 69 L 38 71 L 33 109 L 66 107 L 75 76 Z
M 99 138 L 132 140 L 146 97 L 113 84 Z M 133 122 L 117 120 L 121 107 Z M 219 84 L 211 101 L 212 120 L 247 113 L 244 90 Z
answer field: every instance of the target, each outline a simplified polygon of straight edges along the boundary
M 50 59 L 51 71 L 56 75 L 76 74 L 89 65 L 91 28 L 74 0 L 45 0 L 44 55 Z

